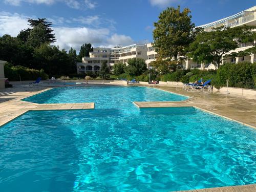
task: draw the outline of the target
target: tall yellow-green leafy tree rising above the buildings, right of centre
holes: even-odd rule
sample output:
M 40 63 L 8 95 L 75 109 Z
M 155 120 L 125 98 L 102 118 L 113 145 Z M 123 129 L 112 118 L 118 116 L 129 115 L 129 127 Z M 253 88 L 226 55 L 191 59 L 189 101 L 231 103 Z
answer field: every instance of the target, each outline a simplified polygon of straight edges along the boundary
M 154 23 L 154 47 L 162 58 L 178 59 L 185 55 L 185 48 L 194 40 L 195 24 L 191 23 L 190 10 L 185 8 L 182 12 L 171 7 L 159 15 L 159 20 Z M 196 31 L 197 32 L 197 31 Z

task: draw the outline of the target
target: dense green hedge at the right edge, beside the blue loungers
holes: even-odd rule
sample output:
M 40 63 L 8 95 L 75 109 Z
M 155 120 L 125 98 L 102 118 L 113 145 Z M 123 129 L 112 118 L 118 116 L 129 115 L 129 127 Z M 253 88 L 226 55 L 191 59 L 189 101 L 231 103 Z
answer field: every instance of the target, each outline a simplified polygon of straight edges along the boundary
M 255 66 L 255 62 L 225 63 L 218 69 L 212 84 L 217 88 L 224 87 L 227 86 L 228 79 L 229 87 L 255 89 Z

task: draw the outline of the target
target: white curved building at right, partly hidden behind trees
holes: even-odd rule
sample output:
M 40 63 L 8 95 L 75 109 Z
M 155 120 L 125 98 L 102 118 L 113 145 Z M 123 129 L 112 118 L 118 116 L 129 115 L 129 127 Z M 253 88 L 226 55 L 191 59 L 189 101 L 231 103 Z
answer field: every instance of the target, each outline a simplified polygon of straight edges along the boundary
M 237 14 L 231 15 L 229 17 L 217 20 L 216 22 L 211 22 L 198 27 L 203 28 L 205 31 L 209 32 L 212 30 L 212 27 L 216 28 L 224 25 L 231 28 L 241 26 L 241 25 L 256 26 L 256 6 L 246 9 Z M 230 51 L 230 53 L 244 51 L 248 48 L 253 47 L 254 45 L 255 45 L 255 41 L 247 42 L 246 44 L 240 44 L 238 49 L 232 50 Z M 147 44 L 147 48 L 148 48 L 148 51 L 147 51 L 148 58 L 146 60 L 146 63 L 147 65 L 149 65 L 151 61 L 156 60 L 157 53 L 155 52 L 155 49 L 152 48 L 152 44 Z M 243 61 L 255 62 L 256 55 L 252 54 L 244 57 L 230 58 L 230 59 L 224 60 L 223 62 L 238 63 Z M 194 62 L 193 60 L 185 60 L 183 63 L 183 66 L 185 67 L 185 69 L 200 69 L 200 70 L 216 69 L 216 66 L 211 63 L 197 63 L 197 62 Z

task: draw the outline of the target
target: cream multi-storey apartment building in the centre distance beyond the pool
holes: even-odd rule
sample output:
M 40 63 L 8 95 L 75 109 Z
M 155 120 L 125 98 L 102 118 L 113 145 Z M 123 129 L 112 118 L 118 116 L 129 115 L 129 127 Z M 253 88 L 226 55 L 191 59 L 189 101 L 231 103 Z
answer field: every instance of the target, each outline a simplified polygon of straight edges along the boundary
M 112 70 L 115 63 L 127 63 L 131 58 L 147 59 L 146 45 L 130 45 L 114 48 L 94 48 L 89 57 L 83 57 L 82 62 L 77 63 L 77 73 L 98 72 L 103 61 Z

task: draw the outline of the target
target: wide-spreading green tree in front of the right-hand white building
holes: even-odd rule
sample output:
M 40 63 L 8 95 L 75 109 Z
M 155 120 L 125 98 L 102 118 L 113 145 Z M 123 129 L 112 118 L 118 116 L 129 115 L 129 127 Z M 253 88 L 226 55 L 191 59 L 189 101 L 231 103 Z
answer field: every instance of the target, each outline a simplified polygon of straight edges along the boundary
M 223 56 L 231 50 L 239 48 L 239 43 L 254 40 L 253 27 L 242 26 L 235 28 L 212 28 L 210 32 L 198 33 L 194 42 L 189 45 L 187 54 L 194 61 L 214 62 L 218 67 Z M 238 54 L 238 53 L 236 53 Z M 241 52 L 239 54 L 242 54 Z M 228 55 L 226 55 L 228 56 Z M 234 56 L 234 54 L 232 54 Z

